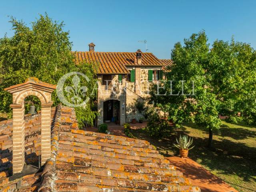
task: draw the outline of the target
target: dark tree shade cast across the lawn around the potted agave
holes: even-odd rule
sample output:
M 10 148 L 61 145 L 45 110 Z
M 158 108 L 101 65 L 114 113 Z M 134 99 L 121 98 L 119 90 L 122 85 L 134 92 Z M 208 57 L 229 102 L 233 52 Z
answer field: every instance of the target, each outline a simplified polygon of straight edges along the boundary
M 196 126 L 193 126 L 193 128 L 200 129 L 204 132 L 207 131 Z M 244 134 L 244 138 L 249 136 L 254 137 L 255 133 L 249 135 L 249 133 L 251 133 L 249 130 L 244 130 L 242 128 L 236 129 L 239 130 L 238 133 L 240 132 L 240 134 Z M 225 130 L 227 136 L 230 136 L 230 130 L 231 129 Z M 170 133 L 170 136 L 161 140 L 151 138 L 145 129 L 133 130 L 132 133 L 136 138 L 148 140 L 150 144 L 154 145 L 157 150 L 159 150 L 160 154 L 168 157 L 178 156 L 178 149 L 173 146 L 175 138 L 180 134 L 189 134 L 190 131 L 186 130 L 186 128 L 173 130 L 173 132 Z M 218 170 L 218 173 L 227 176 L 237 175 L 246 182 L 256 181 L 255 147 L 249 147 L 241 142 L 232 142 L 225 138 L 219 138 L 220 140 L 214 140 L 214 149 L 210 150 L 206 148 L 208 138 L 193 137 L 193 139 L 195 148 L 189 151 L 189 157 L 192 160 L 200 162 L 202 166 L 205 166 L 210 170 Z

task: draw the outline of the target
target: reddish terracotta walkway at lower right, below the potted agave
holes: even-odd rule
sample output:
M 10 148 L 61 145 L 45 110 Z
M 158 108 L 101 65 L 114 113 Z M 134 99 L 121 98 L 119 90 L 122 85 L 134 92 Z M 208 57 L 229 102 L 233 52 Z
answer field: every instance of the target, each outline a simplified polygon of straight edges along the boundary
M 172 156 L 166 159 L 190 178 L 193 185 L 200 187 L 202 192 L 238 192 L 190 158 Z

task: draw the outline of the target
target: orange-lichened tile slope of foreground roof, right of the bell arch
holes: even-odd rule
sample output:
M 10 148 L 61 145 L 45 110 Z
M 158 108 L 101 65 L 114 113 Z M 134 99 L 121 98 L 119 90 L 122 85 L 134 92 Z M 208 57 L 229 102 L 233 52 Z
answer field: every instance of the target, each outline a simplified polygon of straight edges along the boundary
M 61 105 L 52 122 L 51 157 L 34 179 L 20 179 L 24 191 L 200 191 L 145 140 L 78 130 L 74 109 Z M 0 190 L 13 186 L 6 174 Z

